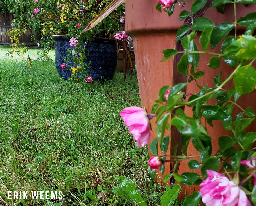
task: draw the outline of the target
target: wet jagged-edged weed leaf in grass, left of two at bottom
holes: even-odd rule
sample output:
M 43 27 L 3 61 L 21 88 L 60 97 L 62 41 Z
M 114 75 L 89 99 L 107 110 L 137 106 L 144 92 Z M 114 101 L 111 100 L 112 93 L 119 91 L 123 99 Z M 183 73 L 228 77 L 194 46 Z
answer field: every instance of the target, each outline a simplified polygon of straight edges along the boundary
M 135 184 L 128 178 L 125 178 L 117 185 L 117 195 L 124 198 L 131 204 L 134 202 L 139 206 L 147 206 L 140 193 L 137 191 Z

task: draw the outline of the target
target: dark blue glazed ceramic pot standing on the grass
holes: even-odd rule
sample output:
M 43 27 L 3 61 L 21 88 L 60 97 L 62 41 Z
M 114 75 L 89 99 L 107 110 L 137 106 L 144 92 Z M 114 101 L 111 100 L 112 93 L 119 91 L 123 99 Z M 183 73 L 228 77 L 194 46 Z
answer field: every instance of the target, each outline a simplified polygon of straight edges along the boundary
M 55 50 L 55 64 L 57 72 L 63 79 L 70 79 L 71 70 L 61 68 L 65 63 L 63 58 L 67 55 L 68 48 L 74 48 L 69 45 L 69 38 L 64 35 L 53 35 Z M 88 63 L 91 60 L 91 68 L 88 72 L 93 80 L 102 81 L 111 80 L 117 69 L 117 46 L 114 39 L 94 38 L 94 41 L 88 42 L 86 56 Z

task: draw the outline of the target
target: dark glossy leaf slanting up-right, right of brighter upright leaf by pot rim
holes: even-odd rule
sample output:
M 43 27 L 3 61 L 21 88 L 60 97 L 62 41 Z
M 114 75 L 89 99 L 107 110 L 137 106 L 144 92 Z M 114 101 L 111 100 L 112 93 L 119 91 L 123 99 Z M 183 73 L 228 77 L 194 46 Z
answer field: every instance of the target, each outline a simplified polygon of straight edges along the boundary
M 224 22 L 214 28 L 211 35 L 211 48 L 215 48 L 218 43 L 229 34 L 233 27 L 234 23 Z

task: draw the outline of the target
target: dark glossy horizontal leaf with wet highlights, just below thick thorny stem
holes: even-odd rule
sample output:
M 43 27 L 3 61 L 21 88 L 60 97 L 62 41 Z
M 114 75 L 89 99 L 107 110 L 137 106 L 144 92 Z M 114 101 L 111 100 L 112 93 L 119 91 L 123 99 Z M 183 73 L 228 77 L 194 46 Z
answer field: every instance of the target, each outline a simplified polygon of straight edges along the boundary
M 202 105 L 202 115 L 206 119 L 223 120 L 228 115 L 216 105 Z

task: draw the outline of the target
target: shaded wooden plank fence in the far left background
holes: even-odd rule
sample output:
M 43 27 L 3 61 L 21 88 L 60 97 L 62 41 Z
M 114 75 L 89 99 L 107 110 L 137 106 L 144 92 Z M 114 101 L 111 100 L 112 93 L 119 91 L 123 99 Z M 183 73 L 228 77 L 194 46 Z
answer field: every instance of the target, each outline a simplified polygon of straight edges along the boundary
M 11 22 L 13 20 L 13 15 L 9 12 L 0 13 L 0 45 L 11 45 L 11 40 L 9 36 L 5 36 L 6 32 L 11 29 Z M 40 39 L 40 36 L 34 34 L 36 40 L 31 41 L 31 36 L 33 35 L 32 30 L 27 30 L 25 34 L 22 34 L 20 38 L 20 44 L 25 43 L 27 45 L 36 46 L 37 41 Z

